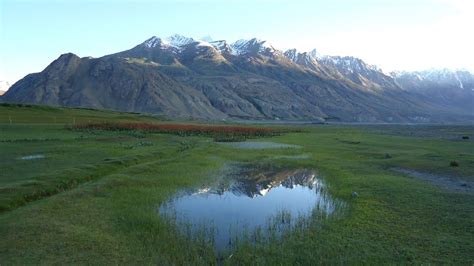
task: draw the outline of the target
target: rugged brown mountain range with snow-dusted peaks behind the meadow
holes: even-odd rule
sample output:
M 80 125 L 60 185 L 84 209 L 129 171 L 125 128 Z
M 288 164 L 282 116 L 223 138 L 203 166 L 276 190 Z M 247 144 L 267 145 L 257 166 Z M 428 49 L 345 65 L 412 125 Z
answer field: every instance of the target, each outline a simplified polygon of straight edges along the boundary
M 152 37 L 100 58 L 67 53 L 0 101 L 144 112 L 205 120 L 472 122 L 474 75 L 384 73 L 355 57 Z

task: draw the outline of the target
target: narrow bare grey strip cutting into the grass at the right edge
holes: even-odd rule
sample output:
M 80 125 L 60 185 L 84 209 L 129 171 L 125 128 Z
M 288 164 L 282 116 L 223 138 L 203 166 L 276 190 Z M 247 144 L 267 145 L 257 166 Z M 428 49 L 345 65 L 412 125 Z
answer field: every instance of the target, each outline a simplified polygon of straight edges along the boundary
M 397 173 L 401 173 L 419 180 L 433 183 L 446 190 L 474 194 L 474 182 L 455 180 L 449 178 L 448 176 L 424 173 L 400 167 L 393 167 L 390 169 Z

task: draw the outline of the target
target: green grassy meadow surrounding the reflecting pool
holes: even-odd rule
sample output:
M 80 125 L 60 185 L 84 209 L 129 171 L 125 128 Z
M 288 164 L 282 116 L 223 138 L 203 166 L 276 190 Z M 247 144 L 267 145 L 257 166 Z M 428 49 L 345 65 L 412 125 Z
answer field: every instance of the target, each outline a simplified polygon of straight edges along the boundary
M 66 128 L 105 121 L 161 122 L 130 113 L 0 106 L 1 265 L 474 263 L 474 195 L 391 170 L 474 182 L 474 127 L 315 125 L 250 140 L 299 149 Z M 32 155 L 44 158 L 22 159 Z M 299 155 L 305 156 L 291 159 Z M 315 169 L 347 210 L 281 240 L 215 254 L 178 233 L 157 209 L 178 190 L 212 181 L 229 162 Z

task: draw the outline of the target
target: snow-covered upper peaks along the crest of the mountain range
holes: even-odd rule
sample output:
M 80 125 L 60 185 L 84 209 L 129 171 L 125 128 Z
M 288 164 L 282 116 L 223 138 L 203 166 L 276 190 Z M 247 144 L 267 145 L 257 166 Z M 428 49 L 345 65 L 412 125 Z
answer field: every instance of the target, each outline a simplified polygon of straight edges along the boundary
M 210 36 L 200 39 L 193 39 L 182 35 L 172 35 L 167 38 L 152 37 L 146 40 L 143 45 L 148 48 L 159 47 L 160 49 L 170 49 L 173 53 L 181 53 L 189 45 L 202 48 L 212 47 L 219 54 L 227 56 L 285 56 L 293 63 L 315 71 L 324 73 L 340 73 L 342 76 L 362 76 L 368 80 L 385 79 L 383 82 L 389 82 L 388 79 L 397 79 L 401 76 L 410 77 L 418 82 L 436 82 L 455 85 L 461 89 L 472 89 L 474 77 L 468 71 L 451 71 L 448 69 L 431 69 L 417 72 L 392 72 L 385 73 L 375 65 L 367 64 L 363 60 L 352 56 L 330 56 L 323 55 L 317 49 L 300 52 L 297 49 L 289 49 L 285 52 L 275 49 L 268 41 L 258 38 L 240 39 L 233 43 L 225 40 L 214 41 Z M 334 71 L 335 70 L 335 71 Z M 355 74 L 355 75 L 353 75 Z M 382 74 L 382 75 L 379 75 Z M 385 76 L 385 77 L 384 77 Z M 336 77 L 339 77 L 336 75 Z M 376 78 L 378 77 L 378 78 Z M 388 78 L 388 79 L 386 79 Z M 356 80 L 357 81 L 357 80 Z M 364 80 L 360 82 L 364 83 Z M 382 82 L 382 83 L 383 83 Z

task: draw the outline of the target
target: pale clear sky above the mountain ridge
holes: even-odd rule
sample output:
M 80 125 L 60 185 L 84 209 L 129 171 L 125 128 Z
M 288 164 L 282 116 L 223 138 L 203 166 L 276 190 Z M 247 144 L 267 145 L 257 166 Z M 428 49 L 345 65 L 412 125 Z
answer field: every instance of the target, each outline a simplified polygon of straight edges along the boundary
M 384 71 L 474 71 L 474 0 L 0 0 L 0 81 L 60 54 L 98 57 L 178 33 L 353 55 Z

